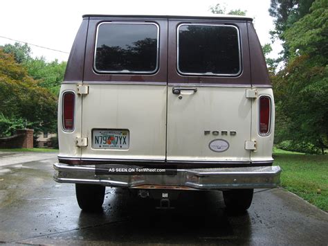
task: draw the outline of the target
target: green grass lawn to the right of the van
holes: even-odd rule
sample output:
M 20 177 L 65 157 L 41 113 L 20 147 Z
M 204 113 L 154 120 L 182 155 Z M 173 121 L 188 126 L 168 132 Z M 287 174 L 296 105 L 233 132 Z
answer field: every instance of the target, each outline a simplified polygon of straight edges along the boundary
M 283 188 L 328 211 L 328 155 L 274 149 L 273 158 L 282 168 Z

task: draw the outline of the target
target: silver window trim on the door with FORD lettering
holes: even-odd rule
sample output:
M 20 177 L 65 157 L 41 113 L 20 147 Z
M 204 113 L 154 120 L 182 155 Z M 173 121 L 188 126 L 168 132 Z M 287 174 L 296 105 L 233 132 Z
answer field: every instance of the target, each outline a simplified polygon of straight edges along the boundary
M 237 30 L 237 39 L 238 39 L 238 51 L 239 51 L 239 71 L 237 73 L 184 73 L 179 68 L 179 28 L 181 26 L 224 26 L 224 27 L 233 27 Z M 176 28 L 176 70 L 183 76 L 217 76 L 217 77 L 237 77 L 242 74 L 242 48 L 240 42 L 240 34 L 239 28 L 234 25 L 226 25 L 226 24 L 192 24 L 192 23 L 182 23 Z

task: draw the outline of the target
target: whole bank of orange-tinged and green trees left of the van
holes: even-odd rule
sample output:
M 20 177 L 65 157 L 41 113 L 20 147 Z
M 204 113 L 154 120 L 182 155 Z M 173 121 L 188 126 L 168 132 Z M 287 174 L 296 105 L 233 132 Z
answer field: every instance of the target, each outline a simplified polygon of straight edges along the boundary
M 0 136 L 19 128 L 57 132 L 57 96 L 66 62 L 32 58 L 30 47 L 0 46 Z M 15 59 L 15 60 L 14 60 Z M 57 139 L 53 139 L 55 146 Z

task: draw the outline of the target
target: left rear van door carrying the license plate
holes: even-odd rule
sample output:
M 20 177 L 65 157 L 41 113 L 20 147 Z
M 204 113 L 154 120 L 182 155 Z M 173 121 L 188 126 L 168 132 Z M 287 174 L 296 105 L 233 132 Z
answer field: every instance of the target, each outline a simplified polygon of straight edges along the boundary
M 83 86 L 82 160 L 165 161 L 167 19 L 90 17 Z

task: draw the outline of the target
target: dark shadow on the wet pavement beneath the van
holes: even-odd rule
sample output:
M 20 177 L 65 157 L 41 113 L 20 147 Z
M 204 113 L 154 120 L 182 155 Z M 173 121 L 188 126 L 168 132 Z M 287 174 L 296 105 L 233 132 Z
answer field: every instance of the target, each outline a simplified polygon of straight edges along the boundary
M 75 236 L 96 242 L 111 243 L 225 243 L 249 241 L 248 213 L 232 216 L 226 213 L 218 191 L 183 193 L 175 209 L 156 209 L 154 200 L 136 197 L 123 189 L 115 189 L 116 197 L 107 195 L 102 213 L 80 213 L 80 230 Z M 107 223 L 112 215 L 124 218 Z M 90 218 L 98 225 L 88 227 Z M 84 229 L 83 229 L 84 228 Z

